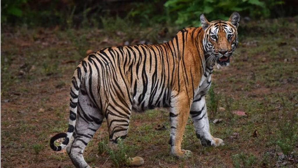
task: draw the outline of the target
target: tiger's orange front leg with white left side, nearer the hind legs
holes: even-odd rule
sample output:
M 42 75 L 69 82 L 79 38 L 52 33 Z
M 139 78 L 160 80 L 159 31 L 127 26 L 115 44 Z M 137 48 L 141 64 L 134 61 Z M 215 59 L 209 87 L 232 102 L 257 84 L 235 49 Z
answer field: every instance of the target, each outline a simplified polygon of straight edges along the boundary
M 190 101 L 187 95 L 178 94 L 171 98 L 170 105 L 171 131 L 169 144 L 171 145 L 171 153 L 178 158 L 190 157 L 190 150 L 181 149 L 181 142 L 189 116 Z

